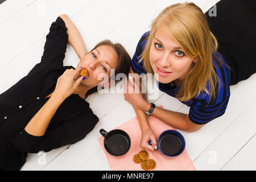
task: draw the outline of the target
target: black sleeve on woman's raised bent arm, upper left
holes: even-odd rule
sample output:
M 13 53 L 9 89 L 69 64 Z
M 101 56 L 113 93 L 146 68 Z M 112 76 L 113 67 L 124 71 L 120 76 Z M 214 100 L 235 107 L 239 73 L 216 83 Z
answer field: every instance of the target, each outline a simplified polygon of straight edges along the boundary
M 41 61 L 43 63 L 60 61 L 63 65 L 67 43 L 67 27 L 65 26 L 63 19 L 58 17 L 49 28 L 49 33 L 46 36 L 46 43 L 44 44 L 44 52 Z

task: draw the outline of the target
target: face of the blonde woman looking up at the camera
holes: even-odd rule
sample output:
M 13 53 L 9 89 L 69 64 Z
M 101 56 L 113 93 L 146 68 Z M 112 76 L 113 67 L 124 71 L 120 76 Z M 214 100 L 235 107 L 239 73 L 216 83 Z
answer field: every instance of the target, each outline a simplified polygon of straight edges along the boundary
M 156 79 L 159 82 L 183 81 L 196 61 L 186 56 L 172 38 L 156 32 L 150 47 L 150 64 L 154 73 L 158 73 Z

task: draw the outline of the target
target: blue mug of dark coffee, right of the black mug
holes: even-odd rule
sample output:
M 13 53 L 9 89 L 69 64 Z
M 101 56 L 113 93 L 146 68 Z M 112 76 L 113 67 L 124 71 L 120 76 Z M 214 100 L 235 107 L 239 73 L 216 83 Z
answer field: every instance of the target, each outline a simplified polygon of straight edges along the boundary
M 159 135 L 157 143 L 159 151 L 170 158 L 179 156 L 185 149 L 185 139 L 176 130 L 163 131 Z M 151 140 L 148 141 L 148 144 L 152 145 Z

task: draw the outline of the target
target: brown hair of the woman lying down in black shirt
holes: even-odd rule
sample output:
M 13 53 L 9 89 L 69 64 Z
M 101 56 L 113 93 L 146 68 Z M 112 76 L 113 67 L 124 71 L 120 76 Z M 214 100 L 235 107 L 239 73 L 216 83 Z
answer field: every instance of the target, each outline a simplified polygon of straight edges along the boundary
M 103 40 L 102 42 L 98 43 L 90 52 L 100 46 L 112 47 L 118 56 L 118 66 L 115 68 L 115 75 L 110 75 L 110 77 L 115 77 L 118 73 L 124 73 L 125 75 L 128 75 L 130 70 L 131 57 L 126 49 L 119 43 L 114 44 L 110 40 Z M 94 86 L 92 89 L 88 90 L 84 99 L 86 99 L 90 94 L 97 92 L 97 87 L 98 86 Z

